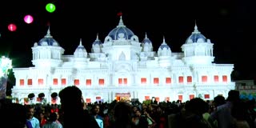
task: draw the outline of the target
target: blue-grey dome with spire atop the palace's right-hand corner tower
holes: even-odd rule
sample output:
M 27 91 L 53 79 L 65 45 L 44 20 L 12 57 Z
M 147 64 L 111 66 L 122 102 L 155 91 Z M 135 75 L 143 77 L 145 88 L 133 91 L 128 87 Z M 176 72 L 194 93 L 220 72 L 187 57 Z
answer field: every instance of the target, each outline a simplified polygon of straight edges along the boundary
M 198 31 L 198 26 L 194 26 L 194 31 L 190 35 L 189 38 L 186 39 L 186 44 L 188 43 L 197 43 L 197 42 L 207 42 L 207 39 L 204 35 L 201 34 L 200 31 Z

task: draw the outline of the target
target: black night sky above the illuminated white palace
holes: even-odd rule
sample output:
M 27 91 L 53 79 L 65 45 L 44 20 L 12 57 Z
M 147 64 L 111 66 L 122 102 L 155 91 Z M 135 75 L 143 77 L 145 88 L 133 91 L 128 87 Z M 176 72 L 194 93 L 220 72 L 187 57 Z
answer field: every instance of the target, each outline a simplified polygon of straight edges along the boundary
M 82 44 L 90 52 L 96 35 L 104 42 L 106 35 L 119 21 L 118 13 L 126 27 L 138 36 L 145 33 L 154 45 L 162 43 L 163 36 L 172 52 L 182 52 L 181 46 L 194 30 L 198 30 L 214 43 L 215 63 L 234 64 L 233 79 L 254 79 L 256 74 L 255 49 L 256 10 L 254 1 L 67 1 L 67 0 L 8 0 L 0 3 L 0 54 L 13 60 L 14 67 L 32 66 L 34 42 L 50 34 L 65 49 L 64 54 L 74 54 Z M 46 4 L 56 6 L 53 13 Z M 26 24 L 26 14 L 34 22 Z M 17 25 L 11 32 L 7 26 Z

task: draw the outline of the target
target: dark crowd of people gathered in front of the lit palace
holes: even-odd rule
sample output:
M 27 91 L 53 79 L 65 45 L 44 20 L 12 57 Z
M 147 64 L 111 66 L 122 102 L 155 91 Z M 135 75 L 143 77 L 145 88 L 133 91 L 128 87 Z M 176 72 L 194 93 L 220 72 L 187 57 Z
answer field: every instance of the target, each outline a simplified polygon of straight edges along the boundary
M 86 103 L 77 86 L 58 94 L 60 105 L 0 102 L 3 128 L 254 128 L 255 99 L 242 100 L 239 91 L 213 101 L 192 98 L 174 102 Z

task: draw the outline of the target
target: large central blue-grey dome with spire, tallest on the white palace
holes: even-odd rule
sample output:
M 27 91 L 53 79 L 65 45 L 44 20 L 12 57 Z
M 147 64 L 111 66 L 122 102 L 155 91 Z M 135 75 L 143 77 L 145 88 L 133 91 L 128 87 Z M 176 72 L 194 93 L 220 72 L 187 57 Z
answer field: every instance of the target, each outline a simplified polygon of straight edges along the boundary
M 134 33 L 123 24 L 121 16 L 118 26 L 111 30 L 108 36 L 113 40 L 118 40 L 118 38 L 130 39 Z

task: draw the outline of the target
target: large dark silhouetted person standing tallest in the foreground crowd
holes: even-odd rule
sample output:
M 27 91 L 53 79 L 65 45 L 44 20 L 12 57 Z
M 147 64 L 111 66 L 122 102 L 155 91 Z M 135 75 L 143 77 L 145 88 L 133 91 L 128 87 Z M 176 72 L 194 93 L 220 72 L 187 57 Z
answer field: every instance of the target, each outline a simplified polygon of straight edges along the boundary
M 83 110 L 82 91 L 77 86 L 67 86 L 58 96 L 64 112 L 64 128 L 99 128 L 95 119 Z

